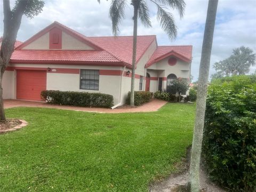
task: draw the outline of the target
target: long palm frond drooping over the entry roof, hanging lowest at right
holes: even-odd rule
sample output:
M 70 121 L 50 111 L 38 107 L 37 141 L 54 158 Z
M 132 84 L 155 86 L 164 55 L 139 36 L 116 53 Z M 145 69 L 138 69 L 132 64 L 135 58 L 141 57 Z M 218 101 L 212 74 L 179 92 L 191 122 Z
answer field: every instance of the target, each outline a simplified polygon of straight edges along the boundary
M 160 21 L 162 29 L 169 36 L 170 39 L 175 39 L 177 37 L 177 26 L 175 25 L 173 15 L 165 11 L 166 7 L 164 7 L 163 5 L 159 5 L 155 1 L 151 2 L 154 2 L 157 6 L 156 19 Z

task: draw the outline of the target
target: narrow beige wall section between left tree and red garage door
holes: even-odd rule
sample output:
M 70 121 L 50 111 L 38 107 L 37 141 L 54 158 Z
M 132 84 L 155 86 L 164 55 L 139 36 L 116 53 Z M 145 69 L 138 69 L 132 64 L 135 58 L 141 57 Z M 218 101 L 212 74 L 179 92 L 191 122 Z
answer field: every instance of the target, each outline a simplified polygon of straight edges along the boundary
M 5 71 L 2 81 L 3 86 L 3 98 L 4 99 L 15 99 L 15 72 L 14 71 Z

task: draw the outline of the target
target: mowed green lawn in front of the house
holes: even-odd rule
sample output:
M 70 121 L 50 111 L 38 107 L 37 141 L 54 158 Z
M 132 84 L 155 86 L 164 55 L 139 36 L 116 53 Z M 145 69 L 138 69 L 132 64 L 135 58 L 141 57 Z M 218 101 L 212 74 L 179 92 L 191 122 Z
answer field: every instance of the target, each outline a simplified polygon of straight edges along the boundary
M 147 191 L 177 172 L 195 105 L 130 114 L 22 107 L 6 116 L 29 125 L 0 135 L 0 191 Z

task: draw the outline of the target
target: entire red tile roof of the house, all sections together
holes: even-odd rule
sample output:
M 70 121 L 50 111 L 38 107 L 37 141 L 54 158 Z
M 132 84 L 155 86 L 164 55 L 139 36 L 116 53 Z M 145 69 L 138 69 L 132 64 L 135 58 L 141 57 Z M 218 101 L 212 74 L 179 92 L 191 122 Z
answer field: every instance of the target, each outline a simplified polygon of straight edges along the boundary
M 35 41 L 35 39 L 41 37 L 54 27 L 60 28 L 65 31 L 65 33 L 77 38 L 79 41 L 89 44 L 89 46 L 92 46 L 95 50 L 22 50 L 22 47 Z M 156 41 L 155 35 L 138 36 L 137 62 L 154 41 Z M 11 62 L 33 63 L 33 61 L 38 61 L 43 63 L 43 61 L 47 61 L 51 63 L 65 61 L 68 63 L 70 61 L 79 62 L 81 64 L 83 62 L 105 62 L 111 63 L 109 65 L 114 65 L 113 63 L 119 63 L 118 65 L 121 65 L 122 63 L 124 66 L 131 67 L 132 44 L 133 36 L 86 37 L 55 21 L 50 26 L 47 26 L 36 35 L 29 38 L 26 42 L 21 43 L 17 41 L 17 44 L 15 44 L 17 48 L 12 54 Z M 168 54 L 172 50 L 182 55 L 182 57 L 191 60 L 191 49 L 191 46 L 159 46 L 150 61 L 154 62 L 156 59 L 163 57 L 163 55 Z

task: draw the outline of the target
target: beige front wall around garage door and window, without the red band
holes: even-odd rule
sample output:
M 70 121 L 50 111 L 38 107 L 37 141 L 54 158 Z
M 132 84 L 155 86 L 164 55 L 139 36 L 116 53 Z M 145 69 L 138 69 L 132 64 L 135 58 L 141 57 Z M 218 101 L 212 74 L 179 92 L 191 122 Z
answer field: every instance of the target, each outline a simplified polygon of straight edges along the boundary
M 33 68 L 70 68 L 70 69 L 105 69 L 105 70 L 122 70 L 122 67 L 118 66 L 80 66 L 80 65 L 47 65 L 47 64 L 13 64 L 13 67 L 33 67 Z M 57 70 L 58 71 L 58 70 Z M 8 71 L 13 73 L 12 76 L 6 76 L 13 79 L 12 89 L 6 92 L 5 99 L 15 99 L 16 97 L 16 86 L 15 86 L 15 71 Z M 119 103 L 120 93 L 120 79 L 121 76 L 116 75 L 100 75 L 99 77 L 99 90 L 81 90 L 79 89 L 80 74 L 65 74 L 65 73 L 47 73 L 46 89 L 47 90 L 60 90 L 60 91 L 85 91 L 85 92 L 96 92 L 111 94 L 114 97 L 114 105 Z M 9 84 L 5 85 L 9 87 Z M 11 96 L 9 96 L 11 95 Z

